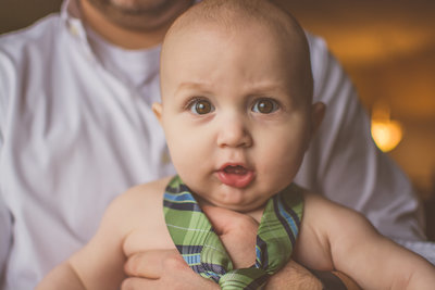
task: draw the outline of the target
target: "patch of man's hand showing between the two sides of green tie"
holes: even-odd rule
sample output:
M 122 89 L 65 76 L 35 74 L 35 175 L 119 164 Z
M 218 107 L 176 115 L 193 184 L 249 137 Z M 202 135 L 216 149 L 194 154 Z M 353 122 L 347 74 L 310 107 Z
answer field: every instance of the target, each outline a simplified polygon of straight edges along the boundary
M 259 224 L 246 214 L 204 205 L 214 230 L 225 245 L 235 268 L 250 267 L 256 262 L 256 239 Z

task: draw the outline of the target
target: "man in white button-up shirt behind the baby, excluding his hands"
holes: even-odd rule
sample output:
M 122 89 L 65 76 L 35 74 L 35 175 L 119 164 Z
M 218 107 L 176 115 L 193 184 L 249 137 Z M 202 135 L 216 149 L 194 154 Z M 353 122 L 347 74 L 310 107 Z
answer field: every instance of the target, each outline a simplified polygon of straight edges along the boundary
M 116 194 L 173 174 L 150 105 L 160 98 L 159 43 L 192 3 L 66 0 L 60 16 L 1 38 L 4 289 L 34 288 L 91 237 Z M 375 149 L 350 81 L 321 39 L 310 36 L 310 47 L 314 99 L 328 109 L 296 180 L 385 235 L 423 239 L 412 189 Z

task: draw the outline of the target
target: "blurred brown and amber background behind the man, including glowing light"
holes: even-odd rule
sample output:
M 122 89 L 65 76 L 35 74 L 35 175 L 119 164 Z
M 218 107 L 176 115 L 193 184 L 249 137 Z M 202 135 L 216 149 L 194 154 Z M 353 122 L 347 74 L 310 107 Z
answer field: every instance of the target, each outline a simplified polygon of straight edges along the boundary
M 435 240 L 435 1 L 275 0 L 326 39 L 372 116 L 376 143 L 408 174 Z M 62 0 L 0 0 L 0 34 Z

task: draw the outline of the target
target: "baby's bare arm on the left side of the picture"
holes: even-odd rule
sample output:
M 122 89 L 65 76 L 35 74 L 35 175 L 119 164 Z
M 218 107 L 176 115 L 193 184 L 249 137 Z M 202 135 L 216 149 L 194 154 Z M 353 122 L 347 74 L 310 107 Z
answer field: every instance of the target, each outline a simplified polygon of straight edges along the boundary
M 146 218 L 147 188 L 137 187 L 116 198 L 104 213 L 100 228 L 82 250 L 55 267 L 37 289 L 120 289 L 125 278 L 124 239 Z M 140 202 L 138 202 L 140 201 Z

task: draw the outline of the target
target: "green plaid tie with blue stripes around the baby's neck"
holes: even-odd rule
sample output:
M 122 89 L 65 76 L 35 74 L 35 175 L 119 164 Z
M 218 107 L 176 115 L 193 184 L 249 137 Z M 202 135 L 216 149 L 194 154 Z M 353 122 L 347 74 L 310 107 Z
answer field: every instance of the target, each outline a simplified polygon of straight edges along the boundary
M 171 237 L 190 268 L 225 290 L 261 289 L 290 259 L 303 200 L 291 184 L 268 201 L 257 234 L 256 264 L 239 269 L 234 269 L 210 220 L 178 176 L 167 185 L 163 206 Z

